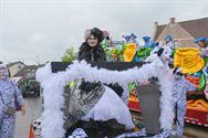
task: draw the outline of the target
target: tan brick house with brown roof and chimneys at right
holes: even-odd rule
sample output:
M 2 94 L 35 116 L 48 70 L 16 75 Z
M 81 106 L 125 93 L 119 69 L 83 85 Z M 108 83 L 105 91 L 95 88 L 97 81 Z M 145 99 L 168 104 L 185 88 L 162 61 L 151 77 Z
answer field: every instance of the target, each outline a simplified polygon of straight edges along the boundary
M 199 36 L 208 38 L 208 18 L 176 22 L 175 18 L 170 18 L 168 24 L 158 25 L 155 22 L 155 31 L 153 40 L 164 42 L 166 35 L 174 36 L 178 47 L 198 47 L 194 40 Z

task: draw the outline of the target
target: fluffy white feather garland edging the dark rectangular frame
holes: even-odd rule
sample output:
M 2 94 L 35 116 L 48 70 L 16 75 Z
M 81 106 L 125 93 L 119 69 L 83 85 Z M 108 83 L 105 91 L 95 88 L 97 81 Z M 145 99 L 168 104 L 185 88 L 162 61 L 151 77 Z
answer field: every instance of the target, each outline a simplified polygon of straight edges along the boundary
M 105 75 L 103 75 L 105 74 Z M 42 136 L 43 138 L 62 138 L 65 130 L 64 125 L 64 86 L 74 79 L 85 78 L 89 82 L 101 83 L 118 83 L 125 86 L 129 82 L 139 83 L 153 76 L 158 77 L 160 85 L 160 125 L 164 130 L 170 130 L 174 119 L 171 102 L 171 83 L 168 77 L 167 67 L 159 59 L 154 59 L 153 63 L 148 63 L 137 68 L 127 71 L 107 71 L 105 68 L 91 67 L 85 61 L 75 61 L 66 71 L 53 74 L 51 65 L 38 70 L 37 79 L 43 87 L 44 112 L 42 114 Z

